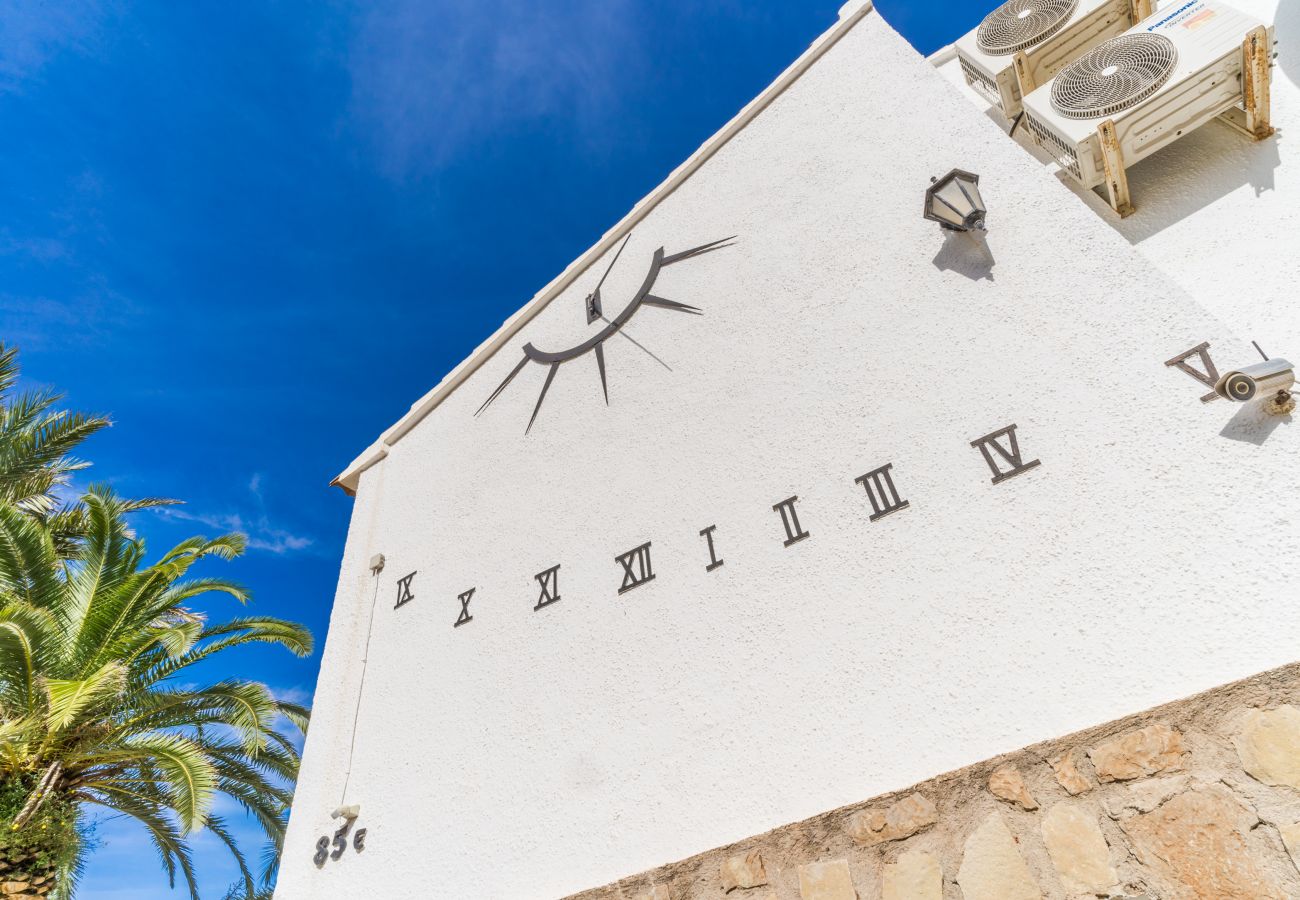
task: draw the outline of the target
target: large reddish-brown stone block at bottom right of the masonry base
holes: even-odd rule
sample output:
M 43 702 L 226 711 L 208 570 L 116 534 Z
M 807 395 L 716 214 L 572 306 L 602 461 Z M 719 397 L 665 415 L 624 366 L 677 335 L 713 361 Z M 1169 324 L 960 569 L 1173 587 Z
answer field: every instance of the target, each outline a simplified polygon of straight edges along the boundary
M 1221 784 L 1193 787 L 1121 822 L 1138 858 L 1195 900 L 1283 900 L 1286 893 L 1247 845 L 1258 817 Z

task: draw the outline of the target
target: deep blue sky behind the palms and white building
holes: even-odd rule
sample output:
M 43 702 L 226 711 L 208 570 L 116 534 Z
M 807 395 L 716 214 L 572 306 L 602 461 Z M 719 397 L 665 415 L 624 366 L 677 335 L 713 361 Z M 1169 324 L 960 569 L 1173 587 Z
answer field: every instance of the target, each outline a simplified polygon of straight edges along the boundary
M 247 532 L 228 572 L 324 642 L 329 479 L 838 5 L 0 0 L 0 339 L 112 414 L 87 481 L 187 502 L 155 551 Z M 930 52 L 993 5 L 878 8 Z M 237 662 L 307 698 L 318 654 Z M 83 897 L 179 896 L 134 826 L 99 839 Z

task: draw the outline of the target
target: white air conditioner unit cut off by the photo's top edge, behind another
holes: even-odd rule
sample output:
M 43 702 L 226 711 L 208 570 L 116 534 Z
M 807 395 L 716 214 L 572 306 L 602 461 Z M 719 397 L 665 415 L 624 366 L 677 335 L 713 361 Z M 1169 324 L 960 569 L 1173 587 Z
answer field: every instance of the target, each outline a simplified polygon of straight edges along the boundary
M 1020 98 L 1150 13 L 1150 0 L 1008 0 L 961 38 L 966 83 L 1008 118 Z

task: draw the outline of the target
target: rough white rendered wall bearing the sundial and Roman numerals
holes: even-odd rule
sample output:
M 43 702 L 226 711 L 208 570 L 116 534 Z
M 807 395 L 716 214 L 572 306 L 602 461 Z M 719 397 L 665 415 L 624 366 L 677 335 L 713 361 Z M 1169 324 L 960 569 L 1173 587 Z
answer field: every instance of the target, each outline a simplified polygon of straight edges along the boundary
M 1199 242 L 1171 277 L 853 26 L 633 230 L 607 312 L 656 247 L 738 235 L 659 278 L 703 316 L 625 329 L 664 364 L 615 336 L 608 407 L 589 355 L 528 437 L 541 365 L 473 417 L 523 343 L 592 333 L 607 254 L 360 473 L 277 896 L 556 897 L 1295 659 L 1295 427 L 1164 365 L 1300 355 L 1300 232 L 1251 187 L 1282 183 L 1257 160 L 1286 134 L 1210 144 L 1209 196 L 1135 176 L 1165 211 L 1145 243 Z M 983 178 L 987 256 L 920 217 L 953 166 Z M 1043 464 L 992 485 L 970 441 L 1011 423 Z M 911 506 L 868 523 L 854 479 L 887 462 Z M 783 548 L 790 494 L 811 537 Z M 647 540 L 656 580 L 619 596 Z M 354 715 L 367 849 L 317 869 Z

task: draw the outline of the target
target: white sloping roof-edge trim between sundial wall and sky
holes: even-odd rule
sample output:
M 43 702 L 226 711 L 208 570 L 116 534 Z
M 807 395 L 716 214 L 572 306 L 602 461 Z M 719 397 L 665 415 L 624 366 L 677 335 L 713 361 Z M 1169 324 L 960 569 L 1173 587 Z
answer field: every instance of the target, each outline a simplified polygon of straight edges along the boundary
M 387 457 L 389 449 L 393 447 L 393 445 L 400 441 L 412 428 L 419 425 L 420 420 L 442 403 L 442 401 L 445 401 L 451 391 L 459 388 L 462 382 L 464 382 L 464 380 L 468 378 L 480 365 L 486 363 L 493 354 L 506 345 L 507 341 L 515 337 L 515 334 L 517 334 L 519 330 L 533 319 L 533 316 L 545 310 L 547 303 L 573 284 L 573 281 L 582 274 L 589 265 L 599 260 L 610 250 L 610 247 L 621 241 L 628 232 L 649 216 L 650 212 L 659 205 L 662 200 L 664 200 L 664 198 L 677 190 L 677 187 L 680 187 L 686 178 L 693 176 L 699 166 L 707 163 L 714 153 L 727 144 L 728 140 L 740 134 L 741 129 L 754 121 L 760 112 L 767 109 L 772 100 L 779 98 L 785 92 L 785 88 L 798 81 L 800 75 L 807 72 L 809 68 L 822 59 L 828 49 L 835 47 L 840 38 L 846 35 L 854 25 L 866 18 L 867 13 L 871 12 L 871 0 L 850 0 L 844 4 L 844 7 L 840 8 L 840 20 L 823 33 L 822 36 L 814 40 L 812 44 L 803 51 L 800 59 L 794 60 L 794 62 L 790 64 L 790 66 L 776 78 L 776 81 L 768 85 L 762 94 L 750 100 L 750 103 L 741 109 L 734 118 L 727 122 L 720 131 L 706 140 L 685 163 L 673 169 L 672 174 L 670 174 L 663 183 L 632 207 L 632 211 L 624 216 L 618 225 L 606 232 L 604 237 L 602 237 L 590 250 L 573 260 L 568 268 L 551 281 L 551 284 L 540 290 L 519 312 L 502 323 L 502 326 L 498 328 L 490 338 L 478 345 L 478 347 L 476 347 L 474 351 L 464 359 L 464 362 L 451 369 L 451 372 L 448 372 L 433 390 L 416 401 L 411 406 L 410 412 L 384 432 L 374 443 L 367 447 L 360 457 L 354 459 L 338 477 L 330 481 L 330 484 L 338 485 L 348 494 L 355 494 L 361 472 Z

